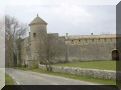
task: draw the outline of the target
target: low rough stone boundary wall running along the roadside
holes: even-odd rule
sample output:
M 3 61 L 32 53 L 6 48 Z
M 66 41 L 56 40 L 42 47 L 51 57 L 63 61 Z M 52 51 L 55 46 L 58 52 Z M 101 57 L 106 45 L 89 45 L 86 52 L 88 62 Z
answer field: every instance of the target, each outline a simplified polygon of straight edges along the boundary
M 40 65 L 39 68 L 46 69 L 45 65 Z M 89 76 L 93 78 L 101 78 L 108 80 L 116 80 L 116 71 L 99 70 L 99 69 L 85 69 L 75 67 L 52 66 L 53 72 L 63 72 L 80 76 Z

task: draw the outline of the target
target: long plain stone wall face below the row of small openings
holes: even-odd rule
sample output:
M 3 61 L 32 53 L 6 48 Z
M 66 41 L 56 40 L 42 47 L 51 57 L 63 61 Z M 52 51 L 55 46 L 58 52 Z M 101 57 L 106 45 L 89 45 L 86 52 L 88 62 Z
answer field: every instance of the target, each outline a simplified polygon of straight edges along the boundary
M 115 43 L 111 44 L 89 44 L 89 45 L 69 45 L 69 60 L 112 60 L 112 50 Z

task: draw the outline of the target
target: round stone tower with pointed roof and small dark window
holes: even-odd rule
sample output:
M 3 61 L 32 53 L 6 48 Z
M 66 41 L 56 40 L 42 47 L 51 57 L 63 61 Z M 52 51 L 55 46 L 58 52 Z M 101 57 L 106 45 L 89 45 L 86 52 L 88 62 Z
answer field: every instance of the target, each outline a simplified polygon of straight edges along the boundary
M 47 58 L 47 23 L 38 15 L 29 24 L 31 42 L 31 63 L 30 66 L 38 66 Z

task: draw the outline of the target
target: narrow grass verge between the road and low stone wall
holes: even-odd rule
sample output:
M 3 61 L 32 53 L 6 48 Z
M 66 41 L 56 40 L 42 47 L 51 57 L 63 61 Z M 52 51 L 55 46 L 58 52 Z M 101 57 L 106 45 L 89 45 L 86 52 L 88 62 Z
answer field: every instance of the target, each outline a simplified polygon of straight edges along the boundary
M 27 69 L 27 68 L 19 68 L 19 69 L 30 70 L 34 72 L 45 73 L 45 74 L 55 75 L 55 76 L 62 76 L 66 78 L 71 78 L 71 79 L 76 79 L 76 80 L 81 80 L 81 81 L 88 81 L 88 82 L 104 84 L 104 85 L 116 85 L 115 80 L 104 80 L 104 79 L 97 79 L 97 78 L 91 78 L 91 77 L 79 76 L 79 75 L 73 75 L 73 74 L 67 74 L 67 73 L 59 73 L 59 72 L 48 72 L 43 69 Z

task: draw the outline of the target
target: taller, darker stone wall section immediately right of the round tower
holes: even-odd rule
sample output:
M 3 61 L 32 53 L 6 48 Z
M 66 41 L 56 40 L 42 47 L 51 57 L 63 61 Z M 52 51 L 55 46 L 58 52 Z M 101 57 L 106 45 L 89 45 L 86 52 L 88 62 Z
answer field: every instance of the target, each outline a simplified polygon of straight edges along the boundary
M 65 38 L 59 37 L 58 33 L 48 34 L 48 56 L 51 63 L 65 61 Z

